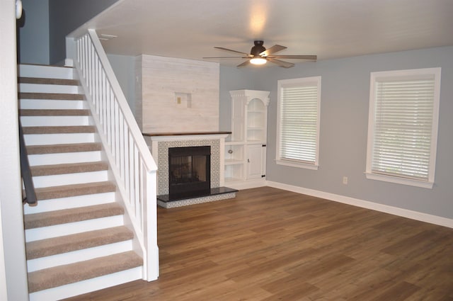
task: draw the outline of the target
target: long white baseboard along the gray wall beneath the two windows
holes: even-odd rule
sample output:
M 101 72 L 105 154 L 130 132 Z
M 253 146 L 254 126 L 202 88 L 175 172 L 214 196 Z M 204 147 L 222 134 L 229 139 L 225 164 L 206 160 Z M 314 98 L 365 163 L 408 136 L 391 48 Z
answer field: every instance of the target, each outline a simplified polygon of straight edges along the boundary
M 360 200 L 357 198 L 350 198 L 345 195 L 337 195 L 334 193 L 326 193 L 323 191 L 316 191 L 314 189 L 303 188 L 299 186 L 292 186 L 283 183 L 266 181 L 266 186 L 280 188 L 285 191 L 292 191 L 294 193 L 302 193 L 306 195 L 312 195 L 316 198 L 325 198 L 326 200 L 333 200 L 338 203 L 344 203 L 348 205 L 357 206 L 360 208 L 366 208 L 376 210 L 380 212 L 389 213 L 391 215 L 398 215 L 401 217 L 407 217 L 411 220 L 419 220 L 420 222 L 429 222 L 430 224 L 440 225 L 443 227 L 453 228 L 453 220 L 447 217 L 440 217 L 437 215 L 429 215 L 423 212 L 417 212 L 413 210 L 407 210 L 403 208 L 392 207 L 389 205 L 382 205 L 379 203 L 369 202 L 368 200 Z

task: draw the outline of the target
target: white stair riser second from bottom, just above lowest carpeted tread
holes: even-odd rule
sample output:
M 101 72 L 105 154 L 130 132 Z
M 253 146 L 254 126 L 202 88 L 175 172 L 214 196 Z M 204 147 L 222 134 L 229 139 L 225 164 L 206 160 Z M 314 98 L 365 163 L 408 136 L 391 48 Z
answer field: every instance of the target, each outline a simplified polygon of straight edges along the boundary
M 42 270 L 43 268 L 52 268 L 63 264 L 86 261 L 102 256 L 109 256 L 126 251 L 132 251 L 132 239 L 125 242 L 116 242 L 114 244 L 105 244 L 93 248 L 71 251 L 63 254 L 42 257 L 27 261 L 28 273 Z

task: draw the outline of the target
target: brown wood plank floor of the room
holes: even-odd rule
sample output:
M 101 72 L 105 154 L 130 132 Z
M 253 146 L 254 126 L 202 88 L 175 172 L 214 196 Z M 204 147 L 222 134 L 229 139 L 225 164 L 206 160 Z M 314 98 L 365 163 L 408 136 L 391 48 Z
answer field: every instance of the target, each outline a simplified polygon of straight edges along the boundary
M 453 300 L 453 229 L 275 188 L 158 210 L 159 280 L 68 300 Z

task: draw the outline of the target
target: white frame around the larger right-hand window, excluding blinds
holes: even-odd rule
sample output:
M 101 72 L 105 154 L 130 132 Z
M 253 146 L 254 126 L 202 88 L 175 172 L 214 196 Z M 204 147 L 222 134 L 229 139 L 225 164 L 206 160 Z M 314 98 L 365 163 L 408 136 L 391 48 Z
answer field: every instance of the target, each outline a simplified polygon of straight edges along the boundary
M 367 162 L 365 176 L 368 179 L 386 181 L 421 188 L 432 188 L 435 181 L 435 165 L 437 152 L 437 131 L 439 125 L 439 106 L 440 106 L 440 75 L 441 68 L 407 69 L 393 70 L 384 72 L 371 72 L 369 85 L 369 115 L 368 115 L 368 135 L 367 135 Z M 379 174 L 372 171 L 373 151 L 374 151 L 374 128 L 377 83 L 379 81 L 403 81 L 413 79 L 423 79 L 426 76 L 434 76 L 434 96 L 432 103 L 432 125 L 430 136 L 430 158 L 428 164 L 428 176 L 426 180 L 398 176 L 396 174 Z

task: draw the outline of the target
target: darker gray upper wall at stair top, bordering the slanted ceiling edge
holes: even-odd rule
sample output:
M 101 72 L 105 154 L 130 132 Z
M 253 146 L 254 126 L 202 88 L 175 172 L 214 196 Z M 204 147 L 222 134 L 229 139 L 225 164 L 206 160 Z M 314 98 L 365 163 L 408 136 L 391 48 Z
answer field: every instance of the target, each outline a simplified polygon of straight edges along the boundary
M 65 36 L 117 0 L 49 0 L 50 64 L 66 58 Z

